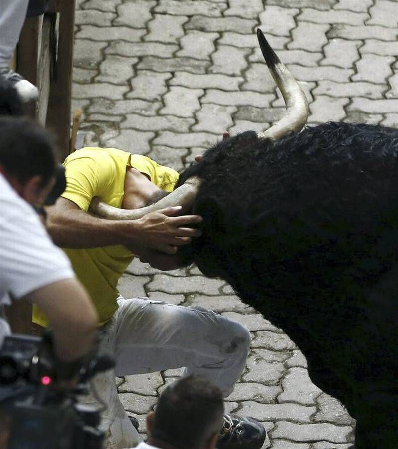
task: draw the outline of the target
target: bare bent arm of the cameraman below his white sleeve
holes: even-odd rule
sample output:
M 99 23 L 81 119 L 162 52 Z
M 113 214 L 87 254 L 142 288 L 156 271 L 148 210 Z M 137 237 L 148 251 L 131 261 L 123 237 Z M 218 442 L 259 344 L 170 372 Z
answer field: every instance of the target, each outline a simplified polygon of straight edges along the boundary
M 63 279 L 28 293 L 21 299 L 37 304 L 53 328 L 55 352 L 64 362 L 85 355 L 93 346 L 97 313 L 76 279 Z

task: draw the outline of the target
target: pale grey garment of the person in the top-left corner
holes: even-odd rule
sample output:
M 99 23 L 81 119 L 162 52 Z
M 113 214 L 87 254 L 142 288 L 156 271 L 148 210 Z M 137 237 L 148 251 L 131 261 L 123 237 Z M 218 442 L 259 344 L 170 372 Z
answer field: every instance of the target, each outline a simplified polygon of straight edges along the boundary
M 0 71 L 9 68 L 28 3 L 29 0 L 0 0 Z

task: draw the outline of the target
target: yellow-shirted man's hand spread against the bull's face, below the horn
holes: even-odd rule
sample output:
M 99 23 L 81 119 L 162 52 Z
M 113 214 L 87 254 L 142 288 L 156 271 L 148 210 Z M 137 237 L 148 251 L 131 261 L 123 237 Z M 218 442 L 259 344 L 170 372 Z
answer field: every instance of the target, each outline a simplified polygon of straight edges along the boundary
M 156 249 L 166 254 L 176 254 L 177 246 L 186 245 L 191 242 L 192 237 L 201 235 L 199 229 L 185 226 L 200 223 L 202 218 L 199 215 L 174 217 L 180 211 L 181 206 L 176 206 L 151 212 L 139 220 L 134 220 L 135 225 L 131 228 L 129 223 L 132 221 L 126 221 L 124 238 L 130 239 L 133 245 Z

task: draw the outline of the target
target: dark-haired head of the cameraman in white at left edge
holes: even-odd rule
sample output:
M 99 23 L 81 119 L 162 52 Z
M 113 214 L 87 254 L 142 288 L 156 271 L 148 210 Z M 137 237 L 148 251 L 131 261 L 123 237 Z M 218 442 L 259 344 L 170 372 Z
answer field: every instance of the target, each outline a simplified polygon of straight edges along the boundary
M 27 118 L 0 117 L 0 173 L 24 200 L 43 204 L 55 167 L 54 141 L 42 126 Z

